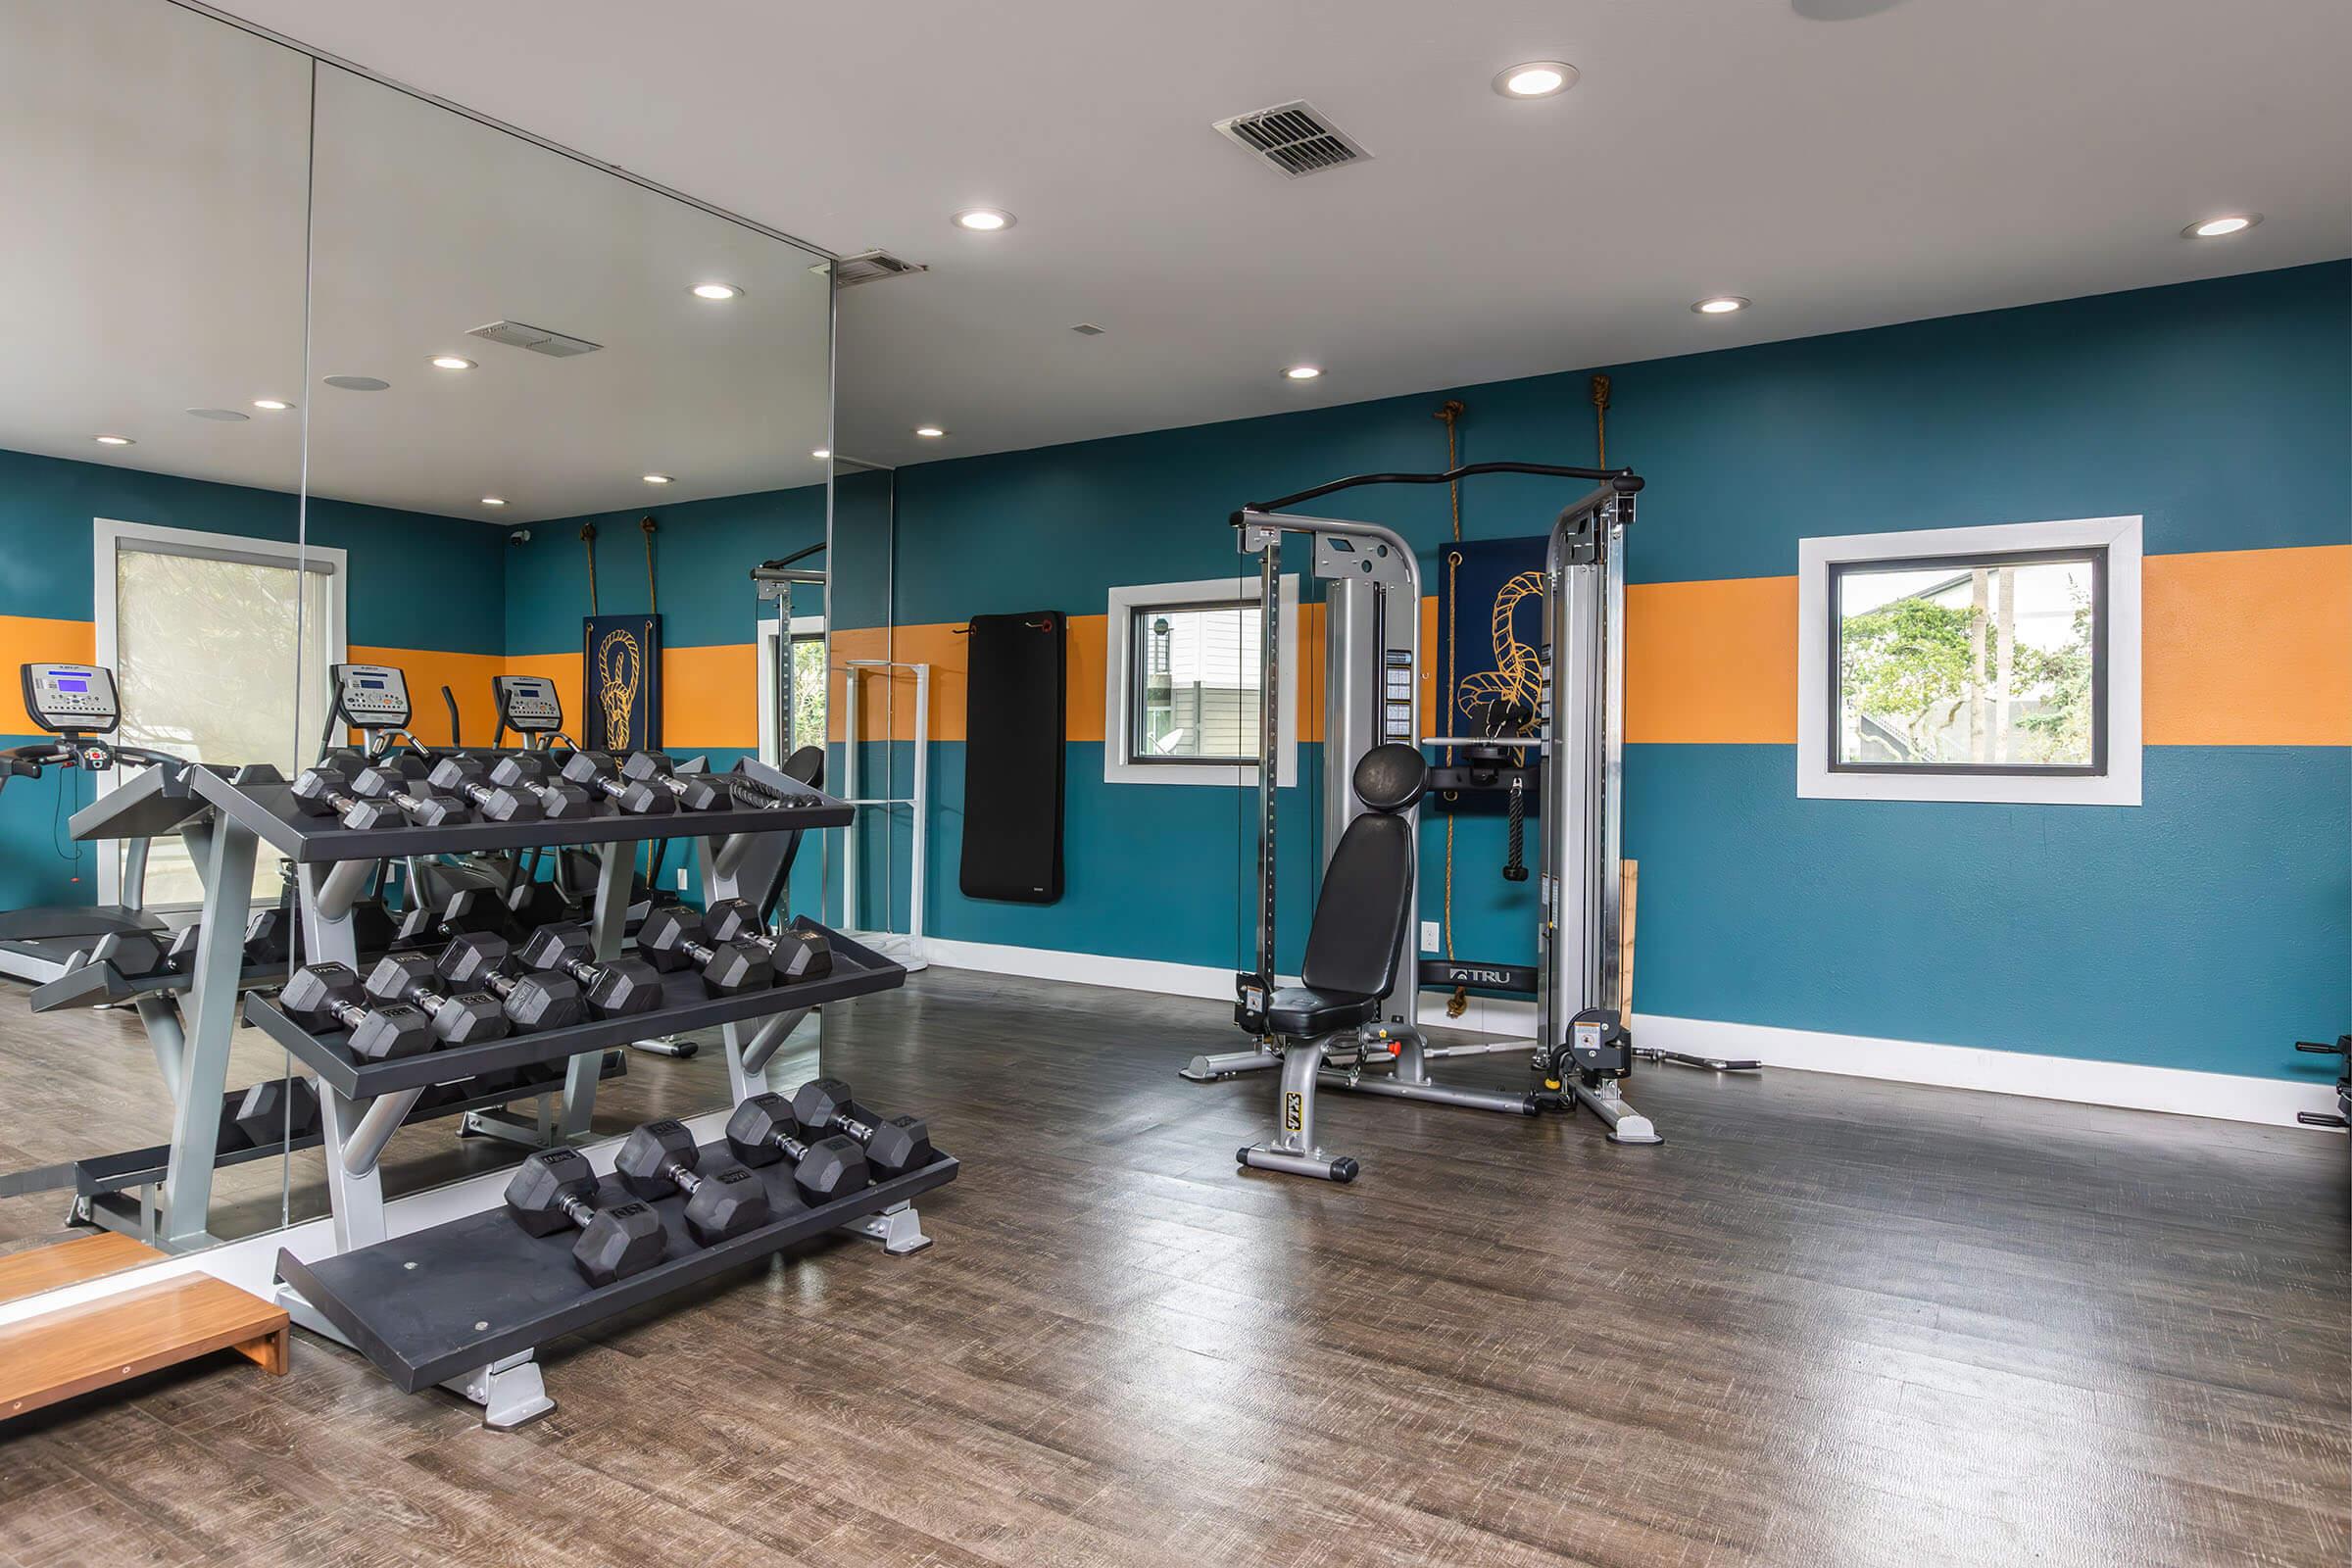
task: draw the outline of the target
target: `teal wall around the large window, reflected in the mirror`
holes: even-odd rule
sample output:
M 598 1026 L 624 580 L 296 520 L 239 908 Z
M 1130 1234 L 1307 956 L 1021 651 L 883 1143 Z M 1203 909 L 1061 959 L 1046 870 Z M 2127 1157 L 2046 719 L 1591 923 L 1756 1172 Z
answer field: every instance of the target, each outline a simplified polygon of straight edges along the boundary
M 94 517 L 292 541 L 292 494 L 0 451 L 0 616 L 89 621 Z M 308 538 L 348 550 L 346 635 L 360 646 L 499 654 L 506 646 L 503 531 L 346 501 L 310 501 Z M 14 670 L 0 670 L 14 679 Z M 5 736 L 21 745 L 33 736 Z M 94 903 L 96 860 L 73 856 L 64 818 L 89 802 L 78 769 L 0 792 L 0 907 Z

